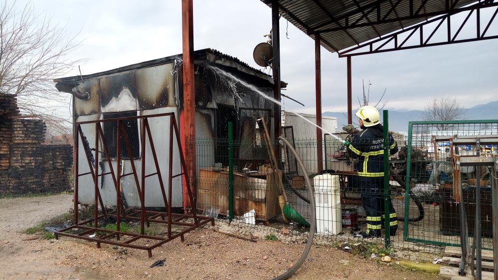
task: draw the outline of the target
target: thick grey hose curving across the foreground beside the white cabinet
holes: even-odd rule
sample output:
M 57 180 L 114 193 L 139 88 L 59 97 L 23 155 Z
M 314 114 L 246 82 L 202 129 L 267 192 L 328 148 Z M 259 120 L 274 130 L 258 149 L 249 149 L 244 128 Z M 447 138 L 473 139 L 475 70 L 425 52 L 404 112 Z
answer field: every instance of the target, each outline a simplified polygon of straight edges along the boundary
M 294 154 L 296 157 L 296 160 L 298 161 L 299 166 L 303 170 L 303 173 L 306 175 L 308 172 L 306 171 L 306 168 L 303 164 L 303 161 L 301 161 L 301 158 L 299 157 L 298 153 L 292 146 L 292 144 L 285 139 L 284 137 L 279 137 L 278 138 L 280 141 L 284 142 L 289 150 Z M 311 246 L 313 245 L 313 238 L 315 237 L 315 230 L 317 229 L 317 217 L 316 217 L 316 206 L 315 206 L 315 193 L 313 192 L 313 188 L 311 187 L 311 182 L 310 178 L 308 176 L 304 176 L 306 184 L 309 186 L 308 189 L 308 194 L 310 198 L 310 204 L 311 204 L 311 222 L 310 222 L 310 233 L 308 234 L 308 242 L 306 243 L 305 250 L 303 251 L 303 254 L 299 258 L 299 260 L 290 268 L 288 271 L 284 272 L 283 274 L 275 277 L 273 280 L 284 280 L 290 278 L 296 271 L 303 265 L 303 263 L 306 261 L 306 257 L 308 257 L 308 253 L 310 253 Z

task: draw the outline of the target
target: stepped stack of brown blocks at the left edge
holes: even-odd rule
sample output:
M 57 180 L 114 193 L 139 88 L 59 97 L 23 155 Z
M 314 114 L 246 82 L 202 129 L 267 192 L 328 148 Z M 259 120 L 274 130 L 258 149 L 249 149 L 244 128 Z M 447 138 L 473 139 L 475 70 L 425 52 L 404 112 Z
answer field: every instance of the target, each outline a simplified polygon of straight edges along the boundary
M 71 189 L 71 145 L 43 144 L 45 123 L 19 116 L 15 98 L 0 93 L 0 195 Z

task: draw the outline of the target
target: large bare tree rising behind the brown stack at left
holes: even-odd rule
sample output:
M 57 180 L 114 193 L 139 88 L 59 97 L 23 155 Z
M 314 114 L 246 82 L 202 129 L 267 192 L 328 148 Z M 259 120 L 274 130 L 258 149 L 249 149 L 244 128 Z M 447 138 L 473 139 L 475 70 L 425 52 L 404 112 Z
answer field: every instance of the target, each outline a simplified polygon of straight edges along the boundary
M 68 58 L 79 43 L 64 28 L 34 13 L 30 4 L 16 9 L 15 1 L 0 3 L 0 92 L 16 96 L 24 114 L 44 119 L 50 131 L 70 132 L 62 117 L 67 94 L 57 91 L 53 79 L 67 74 L 79 60 Z

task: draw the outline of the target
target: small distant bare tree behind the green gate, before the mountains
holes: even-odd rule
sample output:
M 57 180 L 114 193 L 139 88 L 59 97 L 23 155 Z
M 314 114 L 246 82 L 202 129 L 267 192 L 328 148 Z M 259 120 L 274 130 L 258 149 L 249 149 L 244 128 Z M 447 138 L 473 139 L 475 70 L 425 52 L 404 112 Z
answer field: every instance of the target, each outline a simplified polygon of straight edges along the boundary
M 427 103 L 424 111 L 426 121 L 454 121 L 465 115 L 465 109 L 456 97 L 433 98 Z M 434 125 L 439 131 L 446 131 L 453 127 L 449 124 Z

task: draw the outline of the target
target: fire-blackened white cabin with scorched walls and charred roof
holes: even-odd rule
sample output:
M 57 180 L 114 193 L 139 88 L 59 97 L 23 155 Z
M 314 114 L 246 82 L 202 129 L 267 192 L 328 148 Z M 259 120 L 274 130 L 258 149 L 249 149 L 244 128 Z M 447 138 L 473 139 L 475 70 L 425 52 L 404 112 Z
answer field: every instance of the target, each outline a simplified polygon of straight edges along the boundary
M 271 76 L 249 67 L 237 58 L 213 49 L 195 51 L 194 61 L 195 122 L 197 124 L 195 134 L 197 139 L 226 139 L 228 122 L 235 124 L 236 135 L 239 139 L 250 138 L 251 135 L 244 133 L 244 130 L 255 126 L 256 119 L 253 114 L 255 110 L 263 112 L 269 120 L 268 122 L 273 124 L 274 105 L 260 94 L 273 95 Z M 222 75 L 223 73 L 226 73 L 226 77 Z M 116 162 L 118 152 L 122 159 L 119 164 L 121 168 L 115 173 L 120 172 L 123 175 L 121 187 L 124 206 L 140 206 L 140 195 L 134 176 L 125 176 L 130 174 L 133 169 L 130 157 L 133 157 L 137 166 L 140 166 L 145 153 L 147 161 L 145 174 L 156 171 L 153 156 L 151 156 L 151 146 L 146 144 L 143 150 L 141 145 L 142 137 L 139 133 L 141 124 L 136 118 L 130 117 L 174 113 L 177 126 L 180 127 L 179 123 L 183 117 L 182 56 L 173 55 L 91 75 L 60 78 L 56 79 L 55 82 L 59 91 L 71 93 L 75 97 L 73 99 L 73 121 L 75 123 L 124 118 L 122 122 L 131 152 L 127 151 L 128 145 L 125 145 L 124 142 L 117 144 L 118 135 L 115 122 L 103 123 L 103 140 L 107 144 L 107 152 L 114 170 L 117 170 L 118 166 Z M 243 86 L 242 83 L 253 88 Z M 169 126 L 170 122 L 166 116 L 149 120 L 152 138 L 156 144 L 155 153 L 159 159 L 168 158 Z M 94 180 L 83 151 L 85 147 L 95 147 L 96 129 L 95 125 L 81 125 L 81 130 L 84 137 L 79 141 L 77 149 L 81 156 L 79 156 L 76 172 L 77 174 L 88 174 L 79 177 L 80 188 L 77 200 L 80 203 L 93 203 Z M 78 134 L 74 132 L 73 135 L 77 136 Z M 99 144 L 99 146 L 100 152 L 104 152 L 102 145 Z M 173 140 L 172 147 L 172 170 L 168 170 L 169 164 L 167 162 L 163 161 L 159 164 L 164 178 L 169 176 L 169 172 L 179 174 L 182 171 L 176 138 Z M 214 145 L 208 151 L 203 152 L 209 153 L 209 156 L 205 155 L 194 159 L 197 166 L 196 174 L 198 174 L 199 166 L 213 166 L 215 162 L 223 162 L 226 159 L 226 157 L 217 156 L 219 151 Z M 89 156 L 99 158 L 99 162 L 92 164 L 94 168 L 99 168 L 100 174 L 110 174 L 110 164 L 106 162 L 107 155 L 102 154 L 96 157 L 93 150 L 89 152 Z M 252 155 L 246 156 L 251 157 Z M 138 168 L 137 173 L 136 175 L 140 177 L 142 170 Z M 98 181 L 103 204 L 115 206 L 116 190 L 113 177 L 110 175 L 101 176 Z M 146 206 L 165 207 L 157 176 L 148 177 L 146 185 Z M 182 184 L 182 176 L 176 176 L 172 179 L 172 207 L 184 207 L 184 185 Z

